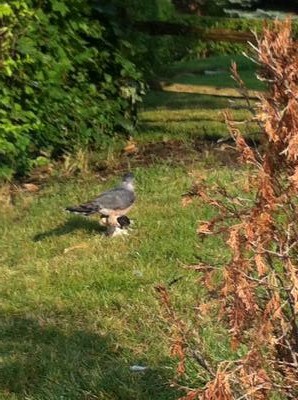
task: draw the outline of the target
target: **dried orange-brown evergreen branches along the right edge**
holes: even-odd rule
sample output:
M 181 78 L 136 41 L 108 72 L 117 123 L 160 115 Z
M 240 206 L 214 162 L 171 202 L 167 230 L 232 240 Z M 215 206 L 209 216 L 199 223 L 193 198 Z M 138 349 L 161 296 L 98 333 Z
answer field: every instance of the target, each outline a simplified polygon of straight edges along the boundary
M 248 164 L 250 198 L 202 179 L 184 200 L 198 196 L 216 210 L 197 232 L 226 239 L 231 258 L 216 287 L 219 318 L 232 351 L 246 351 L 236 361 L 214 363 L 215 375 L 184 400 L 298 398 L 298 43 L 290 20 L 265 26 L 256 40 L 253 57 L 268 83 L 255 109 L 261 147 L 252 149 L 225 114 L 239 159 Z M 235 65 L 232 73 L 245 95 Z M 205 282 L 212 268 L 195 266 Z

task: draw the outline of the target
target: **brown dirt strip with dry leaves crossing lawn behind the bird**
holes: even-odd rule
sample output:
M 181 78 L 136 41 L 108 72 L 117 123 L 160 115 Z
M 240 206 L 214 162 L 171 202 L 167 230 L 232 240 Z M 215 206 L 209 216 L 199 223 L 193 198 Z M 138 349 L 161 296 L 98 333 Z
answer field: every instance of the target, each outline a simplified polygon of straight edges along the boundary
M 82 176 L 86 180 L 90 177 L 94 178 L 95 174 L 100 179 L 105 180 L 111 175 L 121 175 L 125 171 L 134 170 L 136 167 L 146 167 L 159 163 L 187 166 L 200 162 L 205 168 L 218 168 L 220 166 L 238 168 L 238 156 L 232 140 L 218 142 L 215 139 L 191 139 L 187 141 L 167 140 L 146 144 L 136 143 L 135 151 L 128 153 L 123 150 L 122 153 L 118 153 L 117 159 L 114 159 L 112 164 L 108 161 L 90 163 L 88 171 L 83 172 Z M 8 185 L 9 196 L 6 195 L 4 198 L 11 205 L 14 203 L 13 200 L 16 194 L 22 193 L 27 196 L 28 192 L 29 197 L 31 197 L 50 181 L 64 181 L 74 176 L 79 179 L 82 174 L 82 171 L 79 170 L 69 174 L 59 174 L 57 173 L 58 166 L 59 163 L 54 166 L 53 171 L 56 171 L 54 174 L 49 173 L 43 176 L 33 171 L 30 176 Z M 37 185 L 36 188 L 38 190 L 33 191 L 31 186 L 28 188 L 28 185 L 32 187 Z M 1 196 L 0 192 L 0 204 L 2 203 L 1 197 L 3 196 Z

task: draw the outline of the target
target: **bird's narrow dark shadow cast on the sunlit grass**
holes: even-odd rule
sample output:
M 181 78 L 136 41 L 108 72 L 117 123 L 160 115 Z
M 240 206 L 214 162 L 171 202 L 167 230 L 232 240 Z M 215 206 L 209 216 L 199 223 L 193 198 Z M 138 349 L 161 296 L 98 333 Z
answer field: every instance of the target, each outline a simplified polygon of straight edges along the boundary
M 98 221 L 79 216 L 71 216 L 65 223 L 45 232 L 36 234 L 33 237 L 34 242 L 39 242 L 52 236 L 63 236 L 77 230 L 85 230 L 90 233 L 105 234 L 106 228 Z

